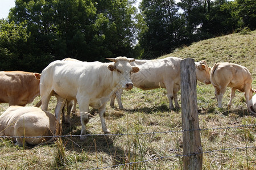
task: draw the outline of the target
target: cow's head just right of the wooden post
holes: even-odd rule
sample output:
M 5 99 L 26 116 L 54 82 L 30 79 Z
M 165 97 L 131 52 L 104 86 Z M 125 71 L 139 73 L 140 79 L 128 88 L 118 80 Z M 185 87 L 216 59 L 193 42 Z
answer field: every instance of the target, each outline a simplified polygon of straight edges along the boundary
M 210 67 L 203 60 L 195 62 L 196 64 L 196 79 L 205 84 L 210 84 Z

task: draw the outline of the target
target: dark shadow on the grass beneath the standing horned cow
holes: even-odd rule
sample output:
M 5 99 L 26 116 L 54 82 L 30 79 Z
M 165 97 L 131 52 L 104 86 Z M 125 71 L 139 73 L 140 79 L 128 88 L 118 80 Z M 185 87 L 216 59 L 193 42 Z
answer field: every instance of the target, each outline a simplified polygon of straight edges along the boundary
M 71 117 L 71 125 L 63 126 L 62 135 L 80 135 L 81 133 L 81 122 L 79 114 L 73 115 Z M 101 155 L 107 154 L 111 156 L 112 165 L 127 163 L 127 155 L 131 158 L 137 155 L 133 151 L 126 151 L 123 148 L 114 145 L 114 141 L 117 141 L 121 136 L 118 135 L 93 135 L 86 127 L 86 134 L 89 135 L 85 141 L 82 141 L 79 136 L 76 137 L 63 137 L 63 146 L 67 151 L 76 152 L 79 155 L 86 154 L 98 154 L 98 159 L 102 159 Z M 135 156 L 136 157 L 136 156 Z

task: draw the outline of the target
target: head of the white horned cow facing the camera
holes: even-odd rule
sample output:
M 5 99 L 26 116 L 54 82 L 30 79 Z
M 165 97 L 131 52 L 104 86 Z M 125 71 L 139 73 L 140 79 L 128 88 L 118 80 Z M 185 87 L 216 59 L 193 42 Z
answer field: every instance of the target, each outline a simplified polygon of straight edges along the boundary
M 134 58 L 117 57 L 117 58 L 106 58 L 114 63 L 108 65 L 108 69 L 113 71 L 113 78 L 117 81 L 122 88 L 130 90 L 133 88 L 133 82 L 131 82 L 131 73 L 137 73 L 138 67 L 132 67 L 130 62 L 135 61 Z

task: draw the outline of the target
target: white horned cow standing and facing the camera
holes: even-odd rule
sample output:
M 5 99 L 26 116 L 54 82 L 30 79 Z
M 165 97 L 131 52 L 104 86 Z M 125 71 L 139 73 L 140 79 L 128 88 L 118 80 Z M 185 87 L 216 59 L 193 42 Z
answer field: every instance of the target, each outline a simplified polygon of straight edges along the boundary
M 42 109 L 47 110 L 49 99 L 53 92 L 57 97 L 55 116 L 60 121 L 60 109 L 65 100 L 77 100 L 81 112 L 81 139 L 85 139 L 85 125 L 89 121 L 89 106 L 98 109 L 101 126 L 106 128 L 104 113 L 106 103 L 113 92 L 119 88 L 131 89 L 133 83 L 131 73 L 139 71 L 130 62 L 135 59 L 126 57 L 107 58 L 112 63 L 54 61 L 42 71 L 40 79 L 40 95 Z

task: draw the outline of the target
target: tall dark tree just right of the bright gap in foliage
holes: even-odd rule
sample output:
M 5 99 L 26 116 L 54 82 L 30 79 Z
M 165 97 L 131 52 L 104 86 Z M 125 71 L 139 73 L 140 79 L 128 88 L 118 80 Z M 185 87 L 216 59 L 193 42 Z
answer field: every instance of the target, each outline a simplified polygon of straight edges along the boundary
M 148 27 L 141 32 L 139 45 L 144 49 L 142 58 L 155 58 L 174 50 L 179 43 L 183 31 L 183 20 L 177 13 L 178 7 L 173 0 L 150 1 L 143 0 L 141 11 Z

